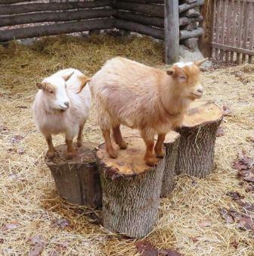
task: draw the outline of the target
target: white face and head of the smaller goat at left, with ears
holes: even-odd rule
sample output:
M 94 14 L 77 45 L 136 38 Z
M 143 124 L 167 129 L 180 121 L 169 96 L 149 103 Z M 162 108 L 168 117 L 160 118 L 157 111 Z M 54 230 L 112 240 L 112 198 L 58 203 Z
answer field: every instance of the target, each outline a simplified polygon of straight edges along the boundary
M 49 76 L 42 81 L 36 83 L 45 97 L 45 102 L 49 108 L 54 110 L 66 111 L 70 107 L 70 99 L 67 95 L 67 80 L 73 73 L 66 76 Z

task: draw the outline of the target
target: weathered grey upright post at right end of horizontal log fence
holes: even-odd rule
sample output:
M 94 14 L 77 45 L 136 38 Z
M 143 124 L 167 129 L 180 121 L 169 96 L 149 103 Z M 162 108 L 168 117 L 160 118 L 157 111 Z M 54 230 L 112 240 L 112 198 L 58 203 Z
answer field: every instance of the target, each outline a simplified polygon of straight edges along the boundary
M 165 61 L 172 64 L 179 59 L 179 11 L 177 0 L 164 0 Z

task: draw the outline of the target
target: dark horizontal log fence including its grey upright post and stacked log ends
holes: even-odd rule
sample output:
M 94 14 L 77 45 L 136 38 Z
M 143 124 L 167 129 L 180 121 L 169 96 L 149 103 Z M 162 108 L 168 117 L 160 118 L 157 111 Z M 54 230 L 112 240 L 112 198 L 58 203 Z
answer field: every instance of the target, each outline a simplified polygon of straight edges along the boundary
M 169 63 L 177 61 L 180 42 L 189 48 L 197 45 L 197 38 L 203 33 L 198 22 L 203 17 L 195 8 L 203 2 L 0 0 L 0 42 L 116 28 L 165 39 Z

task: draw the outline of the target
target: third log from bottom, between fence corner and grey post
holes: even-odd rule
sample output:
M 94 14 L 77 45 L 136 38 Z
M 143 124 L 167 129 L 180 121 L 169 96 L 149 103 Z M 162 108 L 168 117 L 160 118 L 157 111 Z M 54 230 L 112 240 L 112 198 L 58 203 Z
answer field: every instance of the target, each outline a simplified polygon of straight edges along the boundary
M 163 5 L 146 5 L 134 2 L 116 2 L 114 8 L 117 10 L 134 11 L 141 14 L 147 14 L 153 17 L 164 18 Z

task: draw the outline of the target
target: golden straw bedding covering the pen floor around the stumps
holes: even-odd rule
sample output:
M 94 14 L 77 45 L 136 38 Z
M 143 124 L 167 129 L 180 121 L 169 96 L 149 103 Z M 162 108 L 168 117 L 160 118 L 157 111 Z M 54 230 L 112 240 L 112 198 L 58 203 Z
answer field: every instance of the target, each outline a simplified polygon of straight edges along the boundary
M 147 38 L 62 36 L 29 47 L 0 46 L 0 254 L 25 255 L 33 248 L 42 255 L 138 255 L 137 240 L 100 226 L 101 211 L 57 197 L 43 161 L 46 143 L 33 126 L 30 105 L 36 81 L 60 68 L 92 74 L 115 55 L 162 67 L 163 47 L 157 44 Z M 254 204 L 253 192 L 246 192 L 232 168 L 238 152 L 254 158 L 254 66 L 208 70 L 203 79 L 205 98 L 231 108 L 217 139 L 215 173 L 203 180 L 180 176 L 172 195 L 161 200 L 158 224 L 146 239 L 185 255 L 254 255 L 253 231 L 226 223 L 220 213 L 221 208 L 240 211 L 227 192 L 239 192 Z M 92 111 L 85 139 L 99 142 L 93 118 Z M 63 141 L 62 136 L 54 139 Z

